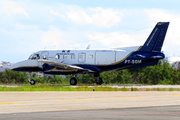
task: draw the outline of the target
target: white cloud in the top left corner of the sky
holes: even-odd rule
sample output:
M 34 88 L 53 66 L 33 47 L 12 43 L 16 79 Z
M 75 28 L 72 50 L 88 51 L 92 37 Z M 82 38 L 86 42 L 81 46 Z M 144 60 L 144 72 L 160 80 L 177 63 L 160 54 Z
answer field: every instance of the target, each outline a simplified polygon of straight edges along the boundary
M 16 2 L 8 1 L 8 0 L 2 0 L 0 1 L 0 12 L 6 13 L 7 15 L 10 14 L 24 14 L 28 16 L 26 11 L 19 7 Z

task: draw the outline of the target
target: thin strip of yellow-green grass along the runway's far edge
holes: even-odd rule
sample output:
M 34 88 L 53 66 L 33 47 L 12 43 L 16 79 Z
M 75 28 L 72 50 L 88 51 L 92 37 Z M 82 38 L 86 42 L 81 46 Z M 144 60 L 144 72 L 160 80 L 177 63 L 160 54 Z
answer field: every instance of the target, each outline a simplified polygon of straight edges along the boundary
M 180 91 L 179 88 L 146 88 L 146 89 L 138 89 L 138 88 L 112 88 L 107 86 L 55 86 L 55 85 L 26 85 L 26 86 L 18 86 L 18 87 L 1 87 L 0 92 L 10 92 L 10 91 L 19 91 L 19 92 L 29 92 L 29 91 Z

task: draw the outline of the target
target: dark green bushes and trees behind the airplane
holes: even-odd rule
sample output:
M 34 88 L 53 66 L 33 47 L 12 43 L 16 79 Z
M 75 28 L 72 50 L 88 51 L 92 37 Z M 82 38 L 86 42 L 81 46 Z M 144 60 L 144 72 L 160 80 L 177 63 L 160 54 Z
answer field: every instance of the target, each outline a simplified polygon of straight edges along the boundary
M 71 78 L 68 76 L 44 76 L 39 77 L 36 73 L 31 76 L 38 84 L 63 84 L 69 85 Z M 160 61 L 155 66 L 144 68 L 125 69 L 118 71 L 102 72 L 103 84 L 148 84 L 148 85 L 176 85 L 180 84 L 180 70 L 171 66 L 168 62 Z M 28 74 L 5 70 L 0 72 L 0 84 L 28 84 Z M 79 74 L 79 85 L 95 84 L 93 74 Z

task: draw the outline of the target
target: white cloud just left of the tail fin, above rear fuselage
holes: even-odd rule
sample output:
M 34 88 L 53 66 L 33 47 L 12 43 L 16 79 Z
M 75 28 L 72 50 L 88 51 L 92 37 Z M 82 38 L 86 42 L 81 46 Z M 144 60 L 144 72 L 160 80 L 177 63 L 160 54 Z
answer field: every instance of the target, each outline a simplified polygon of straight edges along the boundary
M 98 41 L 108 48 L 140 46 L 147 39 L 147 34 L 128 35 L 118 32 L 87 34 L 91 40 Z

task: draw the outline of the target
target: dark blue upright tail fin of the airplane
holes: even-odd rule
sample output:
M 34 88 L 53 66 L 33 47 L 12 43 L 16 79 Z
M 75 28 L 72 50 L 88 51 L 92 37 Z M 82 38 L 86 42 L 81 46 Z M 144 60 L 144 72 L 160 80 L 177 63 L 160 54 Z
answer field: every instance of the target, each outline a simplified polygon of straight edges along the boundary
M 169 22 L 158 22 L 139 51 L 161 51 Z

